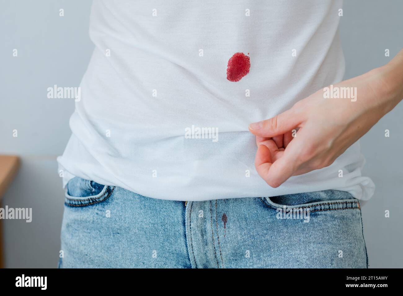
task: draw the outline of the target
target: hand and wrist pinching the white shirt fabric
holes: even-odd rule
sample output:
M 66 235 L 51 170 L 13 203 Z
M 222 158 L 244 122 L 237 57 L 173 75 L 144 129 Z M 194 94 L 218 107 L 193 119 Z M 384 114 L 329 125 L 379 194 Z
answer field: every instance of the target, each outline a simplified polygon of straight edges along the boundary
M 320 89 L 286 112 L 250 124 L 258 174 L 278 187 L 291 176 L 330 166 L 402 99 L 402 56 L 333 86 L 356 87 L 355 98 L 325 98 Z

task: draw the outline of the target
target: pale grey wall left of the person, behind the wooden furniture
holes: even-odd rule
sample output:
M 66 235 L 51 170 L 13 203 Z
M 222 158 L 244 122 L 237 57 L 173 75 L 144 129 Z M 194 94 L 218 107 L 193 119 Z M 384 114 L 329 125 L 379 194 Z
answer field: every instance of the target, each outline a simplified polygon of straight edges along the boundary
M 22 159 L 2 205 L 33 212 L 31 223 L 3 220 L 6 267 L 57 266 L 64 192 L 56 156 L 71 134 L 74 100 L 48 99 L 47 88 L 79 86 L 93 50 L 90 6 L 82 0 L 0 0 L 0 153 Z

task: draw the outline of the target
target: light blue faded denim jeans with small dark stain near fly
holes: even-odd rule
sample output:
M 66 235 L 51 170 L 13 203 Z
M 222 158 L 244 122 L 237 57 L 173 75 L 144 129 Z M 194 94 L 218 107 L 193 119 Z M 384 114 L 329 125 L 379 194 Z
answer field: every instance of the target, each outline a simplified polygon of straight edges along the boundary
M 337 190 L 185 203 L 76 177 L 61 242 L 64 268 L 368 267 L 359 202 Z

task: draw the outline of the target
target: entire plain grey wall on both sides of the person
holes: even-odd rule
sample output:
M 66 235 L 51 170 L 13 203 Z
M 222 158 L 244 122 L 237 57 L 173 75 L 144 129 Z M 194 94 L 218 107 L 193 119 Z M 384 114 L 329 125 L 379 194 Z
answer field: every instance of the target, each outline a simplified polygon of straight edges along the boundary
M 319 0 L 318 0 L 319 1 Z M 70 136 L 71 99 L 48 99 L 47 87 L 79 86 L 93 45 L 90 1 L 0 1 L 0 153 L 18 154 L 21 170 L 3 205 L 32 207 L 33 221 L 3 220 L 6 267 L 56 267 L 63 190 L 56 156 Z M 59 17 L 59 9 L 64 17 Z M 386 64 L 403 48 L 403 2 L 346 1 L 341 36 L 346 75 Z M 4 37 L 3 37 L 4 36 Z M 384 56 L 388 48 L 391 57 Z M 12 50 L 18 50 L 18 57 Z M 361 139 L 364 175 L 376 184 L 362 207 L 370 267 L 403 267 L 403 103 Z M 12 137 L 12 130 L 18 137 Z M 384 137 L 385 129 L 390 137 Z M 389 210 L 391 217 L 384 217 Z

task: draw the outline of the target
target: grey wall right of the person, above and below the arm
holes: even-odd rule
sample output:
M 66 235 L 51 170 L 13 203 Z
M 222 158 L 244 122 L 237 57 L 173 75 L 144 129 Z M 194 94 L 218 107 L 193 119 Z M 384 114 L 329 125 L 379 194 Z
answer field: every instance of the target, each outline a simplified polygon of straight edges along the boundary
M 382 66 L 403 48 L 403 1 L 345 1 L 340 31 L 346 56 L 345 79 Z M 385 57 L 385 49 L 390 57 Z M 362 139 L 367 163 L 363 175 L 376 185 L 362 207 L 370 267 L 403 267 L 403 103 Z M 390 137 L 385 137 L 385 130 Z M 390 217 L 385 217 L 385 210 Z

